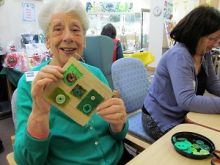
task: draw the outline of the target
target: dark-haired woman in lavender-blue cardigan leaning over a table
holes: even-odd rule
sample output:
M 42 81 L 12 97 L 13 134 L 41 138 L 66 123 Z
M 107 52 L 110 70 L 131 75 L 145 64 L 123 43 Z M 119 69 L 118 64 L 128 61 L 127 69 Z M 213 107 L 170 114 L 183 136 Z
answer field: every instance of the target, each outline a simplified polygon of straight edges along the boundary
M 199 6 L 170 33 L 175 44 L 162 56 L 142 108 L 145 131 L 160 138 L 187 112 L 220 113 L 220 80 L 211 49 L 220 41 L 220 12 Z M 215 96 L 203 96 L 205 90 Z

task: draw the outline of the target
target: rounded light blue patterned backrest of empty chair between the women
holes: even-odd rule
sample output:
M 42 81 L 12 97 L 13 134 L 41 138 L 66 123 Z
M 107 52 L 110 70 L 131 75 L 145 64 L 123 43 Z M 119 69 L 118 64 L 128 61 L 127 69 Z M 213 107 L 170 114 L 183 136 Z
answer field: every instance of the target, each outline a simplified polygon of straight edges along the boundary
M 127 112 L 140 109 L 149 86 L 143 63 L 135 58 L 122 58 L 112 64 L 111 70 L 114 89 L 120 92 Z

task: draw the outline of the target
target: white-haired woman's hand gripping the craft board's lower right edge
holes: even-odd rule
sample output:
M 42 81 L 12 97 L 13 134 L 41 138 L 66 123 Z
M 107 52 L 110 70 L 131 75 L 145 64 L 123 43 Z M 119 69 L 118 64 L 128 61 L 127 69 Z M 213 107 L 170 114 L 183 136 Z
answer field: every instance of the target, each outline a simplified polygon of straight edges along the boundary
M 120 98 L 110 98 L 97 107 L 97 113 L 107 121 L 113 132 L 120 132 L 127 119 L 125 105 Z

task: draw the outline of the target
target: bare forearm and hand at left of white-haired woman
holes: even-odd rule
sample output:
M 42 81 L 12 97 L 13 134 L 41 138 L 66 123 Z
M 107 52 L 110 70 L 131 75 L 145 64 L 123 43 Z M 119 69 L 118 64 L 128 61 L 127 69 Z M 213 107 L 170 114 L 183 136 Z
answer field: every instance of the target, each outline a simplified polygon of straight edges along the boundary
M 59 66 L 48 65 L 42 68 L 32 82 L 32 112 L 28 119 L 27 130 L 29 134 L 37 139 L 48 137 L 50 104 L 43 97 L 45 88 L 61 78 L 63 69 Z

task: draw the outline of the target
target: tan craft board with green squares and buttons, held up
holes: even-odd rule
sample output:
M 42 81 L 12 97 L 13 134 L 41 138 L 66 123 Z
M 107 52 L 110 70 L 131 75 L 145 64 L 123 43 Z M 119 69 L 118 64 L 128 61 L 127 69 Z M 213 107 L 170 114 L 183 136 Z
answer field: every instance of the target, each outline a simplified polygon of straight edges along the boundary
M 64 78 L 45 89 L 48 102 L 80 125 L 85 125 L 96 107 L 113 92 L 79 61 L 71 57 L 63 67 Z

